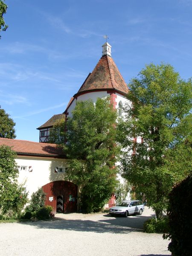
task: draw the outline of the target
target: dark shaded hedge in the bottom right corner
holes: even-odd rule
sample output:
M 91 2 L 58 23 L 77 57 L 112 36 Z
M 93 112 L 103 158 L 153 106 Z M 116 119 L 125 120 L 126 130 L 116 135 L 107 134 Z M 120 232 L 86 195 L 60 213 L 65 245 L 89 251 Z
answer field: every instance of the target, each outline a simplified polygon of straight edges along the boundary
M 192 255 L 192 174 L 172 189 L 167 214 L 170 230 L 164 238 L 172 239 L 168 250 L 174 256 Z

